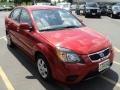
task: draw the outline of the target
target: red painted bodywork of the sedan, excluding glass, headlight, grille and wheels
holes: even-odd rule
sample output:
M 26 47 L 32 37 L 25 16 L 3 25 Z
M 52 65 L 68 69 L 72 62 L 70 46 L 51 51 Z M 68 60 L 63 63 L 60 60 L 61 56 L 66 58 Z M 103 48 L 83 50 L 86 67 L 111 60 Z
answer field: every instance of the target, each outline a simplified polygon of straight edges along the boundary
M 32 10 L 54 9 L 57 7 L 27 6 L 24 8 L 30 15 L 32 30 L 19 30 L 19 22 L 6 17 L 6 32 L 10 34 L 12 41 L 20 46 L 29 56 L 35 58 L 36 52 L 41 52 L 49 62 L 52 77 L 64 83 L 77 83 L 96 71 L 98 64 L 103 60 L 92 62 L 89 54 L 109 48 L 110 55 L 106 58 L 113 62 L 113 49 L 109 40 L 102 34 L 86 26 L 80 28 L 67 28 L 56 31 L 39 32 L 31 14 Z M 56 47 L 70 49 L 77 53 L 82 63 L 62 62 L 56 53 Z M 67 78 L 75 76 L 76 79 L 68 81 Z

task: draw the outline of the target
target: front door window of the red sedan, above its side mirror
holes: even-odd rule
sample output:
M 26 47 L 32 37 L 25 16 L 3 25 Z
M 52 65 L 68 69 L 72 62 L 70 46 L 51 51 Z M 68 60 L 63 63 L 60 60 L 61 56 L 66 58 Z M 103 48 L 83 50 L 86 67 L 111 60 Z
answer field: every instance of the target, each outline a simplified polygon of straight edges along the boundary
M 23 9 L 20 15 L 20 23 L 28 23 L 31 25 L 31 20 L 28 12 Z

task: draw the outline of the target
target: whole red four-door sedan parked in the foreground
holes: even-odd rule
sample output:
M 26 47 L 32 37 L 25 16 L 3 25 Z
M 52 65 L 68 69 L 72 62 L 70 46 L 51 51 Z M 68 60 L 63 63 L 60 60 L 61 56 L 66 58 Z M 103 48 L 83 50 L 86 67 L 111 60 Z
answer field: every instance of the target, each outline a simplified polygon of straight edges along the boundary
M 44 80 L 74 84 L 108 70 L 111 42 L 70 12 L 54 6 L 21 6 L 5 19 L 8 46 L 21 48 Z

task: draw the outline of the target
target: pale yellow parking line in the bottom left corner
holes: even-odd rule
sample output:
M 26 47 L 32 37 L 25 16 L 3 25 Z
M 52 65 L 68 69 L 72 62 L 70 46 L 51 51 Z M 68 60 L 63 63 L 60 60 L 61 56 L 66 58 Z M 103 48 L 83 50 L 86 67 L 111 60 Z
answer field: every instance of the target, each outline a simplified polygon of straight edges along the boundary
M 3 71 L 3 69 L 1 67 L 0 67 L 0 77 L 4 81 L 8 90 L 15 90 L 14 87 L 12 86 L 11 82 L 9 81 L 7 75 L 5 74 L 5 72 Z

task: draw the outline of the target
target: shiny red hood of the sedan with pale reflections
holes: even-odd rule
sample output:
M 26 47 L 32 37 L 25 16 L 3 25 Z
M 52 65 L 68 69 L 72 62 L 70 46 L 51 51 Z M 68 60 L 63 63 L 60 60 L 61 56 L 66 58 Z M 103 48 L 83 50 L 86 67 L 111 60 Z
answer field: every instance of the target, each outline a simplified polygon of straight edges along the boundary
M 52 45 L 68 48 L 79 54 L 88 54 L 109 46 L 109 40 L 87 27 L 42 32 Z

